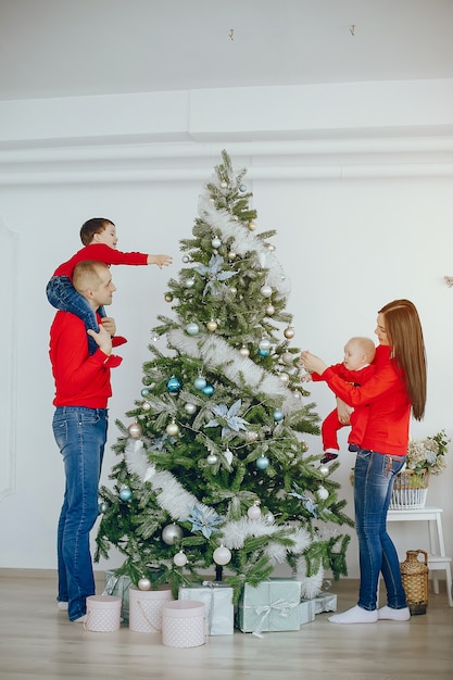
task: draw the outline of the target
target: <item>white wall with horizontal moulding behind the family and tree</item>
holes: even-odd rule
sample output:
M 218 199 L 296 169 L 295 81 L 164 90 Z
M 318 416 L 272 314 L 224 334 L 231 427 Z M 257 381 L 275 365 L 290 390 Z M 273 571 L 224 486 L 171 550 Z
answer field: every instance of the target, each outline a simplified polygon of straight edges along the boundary
M 91 216 L 116 223 L 122 250 L 175 256 L 171 270 L 114 269 L 113 312 L 129 344 L 113 373 L 112 444 L 114 420 L 125 420 L 139 396 L 149 329 L 156 314 L 169 313 L 163 293 L 183 266 L 178 241 L 190 237 L 198 194 L 223 148 L 235 165 L 249 167 L 246 181 L 254 193 L 259 228 L 277 229 L 277 255 L 292 281 L 293 343 L 338 362 L 350 336 L 373 336 L 380 306 L 410 298 L 423 319 L 429 370 L 426 417 L 413 424 L 412 433 L 424 437 L 444 428 L 453 436 L 453 290 L 443 281 L 443 275 L 453 275 L 452 83 L 324 86 L 314 100 L 313 91 L 254 88 L 139 100 L 0 102 L 2 259 L 11 243 L 17 251 L 17 266 L 5 269 L 10 285 L 1 290 L 11 368 L 2 374 L 0 390 L 0 567 L 55 566 L 63 470 L 51 431 L 48 278 L 79 248 L 78 229 Z M 98 113 L 108 112 L 104 127 L 90 116 L 95 104 Z M 151 109 L 147 117 L 143 111 Z M 323 417 L 332 395 L 322 383 L 311 391 Z M 344 431 L 343 443 L 345 437 Z M 307 441 L 311 451 L 319 451 L 317 438 Z M 345 451 L 340 461 L 335 478 L 352 514 L 353 454 Z M 103 481 L 113 462 L 109 451 Z M 451 479 L 452 465 L 431 479 L 428 503 L 444 509 L 453 555 Z M 427 544 L 424 527 L 391 529 L 401 557 Z M 355 539 L 348 557 L 355 577 Z M 116 566 L 118 557 L 113 562 Z

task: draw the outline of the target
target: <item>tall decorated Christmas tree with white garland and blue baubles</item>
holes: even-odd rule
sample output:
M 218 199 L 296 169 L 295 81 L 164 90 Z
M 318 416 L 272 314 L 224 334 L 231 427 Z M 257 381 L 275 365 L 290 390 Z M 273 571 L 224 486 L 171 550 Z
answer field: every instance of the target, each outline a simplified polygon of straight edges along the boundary
M 147 589 L 212 572 L 239 595 L 286 563 L 306 596 L 324 570 L 347 574 L 352 525 L 339 484 L 303 433 L 318 433 L 299 377 L 290 291 L 270 242 L 256 232 L 246 169 L 222 163 L 199 200 L 184 267 L 168 281 L 173 317 L 152 329 L 140 399 L 100 490 L 96 561 L 112 545 L 117 574 Z M 160 341 L 165 348 L 159 348 Z

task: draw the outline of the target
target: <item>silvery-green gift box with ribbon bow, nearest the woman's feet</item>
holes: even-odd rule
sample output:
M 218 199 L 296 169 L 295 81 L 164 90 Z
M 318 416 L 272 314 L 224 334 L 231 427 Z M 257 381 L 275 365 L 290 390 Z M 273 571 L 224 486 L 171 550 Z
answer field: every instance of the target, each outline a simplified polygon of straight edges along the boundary
M 242 632 L 300 629 L 301 584 L 292 579 L 268 579 L 255 588 L 246 583 L 238 608 Z

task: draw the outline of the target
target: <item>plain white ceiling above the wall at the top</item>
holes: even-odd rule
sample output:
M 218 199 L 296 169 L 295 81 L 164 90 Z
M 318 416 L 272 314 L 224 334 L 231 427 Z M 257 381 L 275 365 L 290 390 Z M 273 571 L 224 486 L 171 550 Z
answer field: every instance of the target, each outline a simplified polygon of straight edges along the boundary
M 0 0 L 0 100 L 453 78 L 453 0 Z

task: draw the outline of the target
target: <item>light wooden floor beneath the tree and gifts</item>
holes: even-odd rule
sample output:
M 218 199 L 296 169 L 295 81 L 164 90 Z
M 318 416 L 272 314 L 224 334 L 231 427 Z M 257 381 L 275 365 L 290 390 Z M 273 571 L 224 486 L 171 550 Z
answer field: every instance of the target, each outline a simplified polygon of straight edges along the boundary
M 355 604 L 356 589 L 352 580 L 334 584 L 339 610 Z M 329 614 L 318 614 L 298 632 L 260 639 L 236 631 L 191 648 L 164 646 L 159 633 L 124 626 L 114 633 L 87 631 L 56 609 L 54 597 L 52 572 L 0 571 L 1 680 L 453 678 L 453 608 L 443 583 L 439 595 L 430 593 L 427 613 L 407 622 L 335 626 Z

